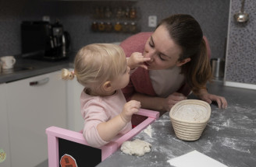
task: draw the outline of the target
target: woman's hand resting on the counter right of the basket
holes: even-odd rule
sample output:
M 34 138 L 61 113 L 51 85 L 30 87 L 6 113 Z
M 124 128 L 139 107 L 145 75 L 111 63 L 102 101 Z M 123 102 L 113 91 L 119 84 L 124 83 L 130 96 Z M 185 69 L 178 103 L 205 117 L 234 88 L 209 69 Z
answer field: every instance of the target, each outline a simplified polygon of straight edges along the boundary
M 206 89 L 199 90 L 197 96 L 209 104 L 211 104 L 212 101 L 215 101 L 216 103 L 218 103 L 219 109 L 226 109 L 226 107 L 228 106 L 225 97 L 210 94 L 207 92 Z

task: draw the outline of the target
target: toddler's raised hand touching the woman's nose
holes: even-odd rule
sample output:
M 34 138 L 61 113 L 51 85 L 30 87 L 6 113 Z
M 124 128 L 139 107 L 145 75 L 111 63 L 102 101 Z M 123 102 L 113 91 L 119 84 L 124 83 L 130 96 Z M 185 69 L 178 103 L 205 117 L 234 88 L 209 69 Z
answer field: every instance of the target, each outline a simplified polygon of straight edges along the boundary
M 134 52 L 130 55 L 127 64 L 131 70 L 137 67 L 145 68 L 147 70 L 148 67 L 144 65 L 144 61 L 150 61 L 150 57 L 144 57 L 141 53 Z

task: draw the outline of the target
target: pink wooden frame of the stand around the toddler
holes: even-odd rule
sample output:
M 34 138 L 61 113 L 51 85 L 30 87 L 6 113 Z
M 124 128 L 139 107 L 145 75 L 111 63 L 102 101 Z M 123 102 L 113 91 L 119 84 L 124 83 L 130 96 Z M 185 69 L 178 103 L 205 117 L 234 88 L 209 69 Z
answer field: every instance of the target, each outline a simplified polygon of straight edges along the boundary
M 101 161 L 104 161 L 105 158 L 108 158 L 109 155 L 112 155 L 119 147 L 123 144 L 124 141 L 130 140 L 130 138 L 139 134 L 141 130 L 148 127 L 149 124 L 153 123 L 159 117 L 159 112 L 153 110 L 144 110 L 140 109 L 137 116 L 147 117 L 140 124 L 137 124 L 136 127 L 133 127 L 127 134 L 124 134 L 122 137 L 112 141 L 108 144 L 105 144 L 101 148 Z M 65 139 L 67 141 L 73 141 L 78 144 L 88 145 L 87 141 L 84 140 L 83 134 L 73 130 L 67 130 L 60 127 L 48 127 L 46 129 L 46 134 L 48 135 L 48 166 L 57 167 L 59 166 L 59 138 Z M 96 149 L 96 148 L 95 148 Z

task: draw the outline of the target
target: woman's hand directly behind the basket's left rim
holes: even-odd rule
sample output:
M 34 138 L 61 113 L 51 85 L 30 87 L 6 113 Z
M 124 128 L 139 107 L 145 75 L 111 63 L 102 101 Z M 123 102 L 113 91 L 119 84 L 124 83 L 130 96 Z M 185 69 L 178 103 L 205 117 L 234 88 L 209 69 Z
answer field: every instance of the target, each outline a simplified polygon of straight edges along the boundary
M 162 106 L 164 107 L 164 110 L 168 112 L 169 110 L 171 110 L 172 106 L 174 106 L 176 103 L 180 102 L 183 99 L 187 99 L 187 97 L 184 96 L 182 93 L 174 92 L 167 98 L 165 98 Z

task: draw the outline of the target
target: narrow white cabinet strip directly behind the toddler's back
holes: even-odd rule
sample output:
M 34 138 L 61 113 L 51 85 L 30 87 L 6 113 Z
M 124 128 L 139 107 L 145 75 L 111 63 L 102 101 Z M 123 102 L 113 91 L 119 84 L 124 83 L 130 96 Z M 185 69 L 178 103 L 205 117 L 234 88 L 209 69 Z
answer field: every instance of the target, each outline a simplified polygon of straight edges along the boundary
M 70 69 L 73 71 L 73 69 Z M 80 112 L 80 95 L 84 87 L 77 82 L 76 78 L 67 82 L 68 101 L 68 129 L 80 131 L 84 127 L 84 119 Z

